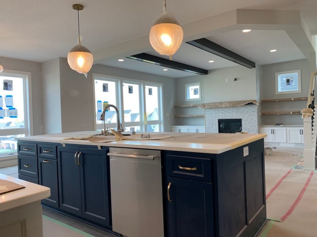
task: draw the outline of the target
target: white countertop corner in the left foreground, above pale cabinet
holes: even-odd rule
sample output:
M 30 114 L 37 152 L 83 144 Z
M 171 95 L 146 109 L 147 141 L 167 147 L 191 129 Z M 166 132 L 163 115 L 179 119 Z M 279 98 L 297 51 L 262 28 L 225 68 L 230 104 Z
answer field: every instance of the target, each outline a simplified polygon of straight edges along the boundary
M 47 198 L 51 195 L 51 191 L 48 187 L 33 184 L 21 179 L 16 179 L 4 174 L 0 174 L 0 179 L 8 180 L 25 186 L 23 189 L 0 195 L 0 212 L 30 204 Z

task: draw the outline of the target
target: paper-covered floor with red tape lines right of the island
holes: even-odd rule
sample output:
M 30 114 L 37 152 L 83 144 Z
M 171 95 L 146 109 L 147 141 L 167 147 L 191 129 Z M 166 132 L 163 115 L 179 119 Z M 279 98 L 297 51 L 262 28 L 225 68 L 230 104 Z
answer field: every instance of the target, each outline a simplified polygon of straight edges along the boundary
M 260 234 L 261 237 L 317 236 L 317 173 L 292 169 L 302 154 L 303 148 L 277 147 L 273 149 L 272 156 L 265 156 L 267 194 L 291 171 L 267 198 L 268 219 L 281 220 L 284 216 L 284 220 L 270 221 Z M 285 215 L 287 213 L 288 216 Z

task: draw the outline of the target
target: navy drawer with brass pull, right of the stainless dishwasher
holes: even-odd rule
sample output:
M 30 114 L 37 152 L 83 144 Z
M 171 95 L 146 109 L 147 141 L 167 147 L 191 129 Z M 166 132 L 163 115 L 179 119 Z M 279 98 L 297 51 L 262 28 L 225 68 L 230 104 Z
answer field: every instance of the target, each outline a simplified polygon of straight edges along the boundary
M 167 176 L 211 183 L 211 160 L 166 155 Z

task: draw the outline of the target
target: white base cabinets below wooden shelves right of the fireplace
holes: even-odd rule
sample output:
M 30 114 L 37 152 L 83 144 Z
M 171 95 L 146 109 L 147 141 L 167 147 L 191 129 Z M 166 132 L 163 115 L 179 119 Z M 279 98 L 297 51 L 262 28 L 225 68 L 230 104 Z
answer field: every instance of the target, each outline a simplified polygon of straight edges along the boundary
M 264 133 L 264 145 L 284 147 L 304 147 L 304 127 L 260 127 Z

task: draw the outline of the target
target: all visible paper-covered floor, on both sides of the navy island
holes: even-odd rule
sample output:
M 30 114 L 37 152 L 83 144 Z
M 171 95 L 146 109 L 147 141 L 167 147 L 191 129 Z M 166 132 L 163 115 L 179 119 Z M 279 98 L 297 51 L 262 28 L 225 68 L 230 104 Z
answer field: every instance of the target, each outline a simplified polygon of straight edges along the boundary
M 273 149 L 272 156 L 265 156 L 265 180 L 266 193 L 285 176 L 276 189 L 267 198 L 268 219 L 281 220 L 286 213 L 289 216 L 280 221 L 270 221 L 262 230 L 259 237 L 316 237 L 317 236 L 317 173 L 293 169 L 303 154 L 303 148 L 277 147 Z M 0 168 L 0 173 L 4 173 L 17 178 L 17 166 Z M 311 177 L 307 185 L 307 179 Z M 304 186 L 307 186 L 305 190 Z M 303 190 L 304 188 L 304 190 Z M 295 204 L 294 204 L 295 203 Z M 292 208 L 293 207 L 293 208 Z M 57 221 L 67 224 L 74 229 L 84 231 L 78 233 L 74 231 L 69 235 L 70 228 L 58 228 L 59 236 L 113 236 L 109 233 L 91 227 L 82 222 L 59 213 L 43 209 L 43 214 Z M 51 236 L 54 224 L 43 221 L 44 237 Z M 63 230 L 65 233 L 63 234 Z M 76 232 L 76 233 L 75 233 Z M 55 233 L 56 234 L 56 233 Z M 55 235 L 56 236 L 56 235 Z

